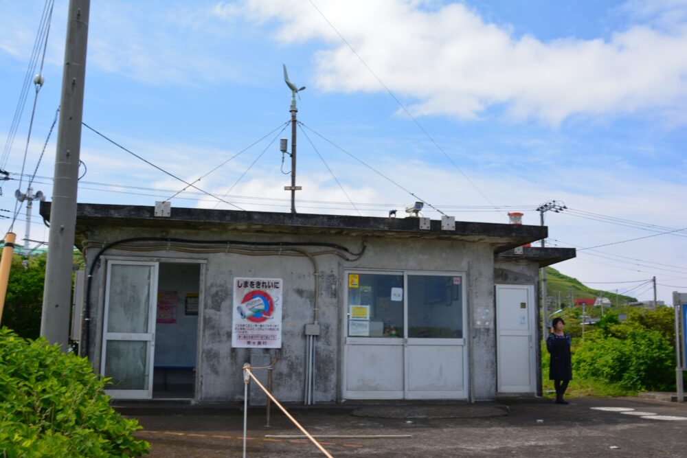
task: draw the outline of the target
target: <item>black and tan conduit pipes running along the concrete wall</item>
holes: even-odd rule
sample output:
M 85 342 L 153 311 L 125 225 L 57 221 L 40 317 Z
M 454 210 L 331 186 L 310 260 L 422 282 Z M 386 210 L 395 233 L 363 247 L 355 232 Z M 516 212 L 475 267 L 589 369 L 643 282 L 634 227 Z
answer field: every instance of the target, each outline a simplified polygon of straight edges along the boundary
M 153 242 L 153 243 L 143 243 L 143 242 Z M 157 243 L 155 243 L 157 242 Z M 127 245 L 135 243 L 135 245 Z M 219 248 L 218 245 L 223 245 L 223 248 Z M 232 247 L 238 246 L 237 247 Z M 313 300 L 313 324 L 319 325 L 319 269 L 317 268 L 317 261 L 315 256 L 317 255 L 337 255 L 346 261 L 358 260 L 365 252 L 365 243 L 363 242 L 363 247 L 359 252 L 354 252 L 338 244 L 330 243 L 319 243 L 319 242 L 245 242 L 243 240 L 192 240 L 192 239 L 181 239 L 181 238 L 160 238 L 160 237 L 137 237 L 137 238 L 126 238 L 122 240 L 117 240 L 116 242 L 111 242 L 109 244 L 104 244 L 102 242 L 94 242 L 93 240 L 86 240 L 83 244 L 84 251 L 90 247 L 100 246 L 100 251 L 93 257 L 91 266 L 89 268 L 89 273 L 87 276 L 87 286 L 86 286 L 86 304 L 84 310 L 84 345 L 80 345 L 80 354 L 82 356 L 88 356 L 89 347 L 89 336 L 90 336 L 90 321 L 91 321 L 91 288 L 93 280 L 93 272 L 95 271 L 95 266 L 98 264 L 98 260 L 102 254 L 112 249 L 113 247 L 118 247 L 122 251 L 180 251 L 183 253 L 233 253 L 238 255 L 249 255 L 249 256 L 305 256 L 313 264 L 313 275 L 315 278 L 315 298 Z M 261 248 L 261 247 L 272 247 Z M 279 247 L 278 251 L 275 251 L 273 247 Z M 325 247 L 330 248 L 326 251 L 316 251 L 309 252 L 299 247 Z M 348 258 L 345 254 L 348 253 L 352 255 L 352 259 Z M 319 334 L 319 332 L 317 332 Z M 315 403 L 315 361 L 316 361 L 316 335 L 308 334 L 306 335 L 306 380 L 305 380 L 305 394 L 304 401 L 305 404 Z

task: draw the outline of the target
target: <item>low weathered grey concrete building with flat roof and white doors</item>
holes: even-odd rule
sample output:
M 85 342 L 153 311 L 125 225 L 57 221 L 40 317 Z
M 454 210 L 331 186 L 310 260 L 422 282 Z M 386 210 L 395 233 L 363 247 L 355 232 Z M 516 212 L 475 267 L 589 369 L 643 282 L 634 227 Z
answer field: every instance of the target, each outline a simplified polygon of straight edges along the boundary
M 232 402 L 243 364 L 274 360 L 286 402 L 534 395 L 538 269 L 575 255 L 522 248 L 546 235 L 452 218 L 79 204 L 76 338 L 113 398 Z

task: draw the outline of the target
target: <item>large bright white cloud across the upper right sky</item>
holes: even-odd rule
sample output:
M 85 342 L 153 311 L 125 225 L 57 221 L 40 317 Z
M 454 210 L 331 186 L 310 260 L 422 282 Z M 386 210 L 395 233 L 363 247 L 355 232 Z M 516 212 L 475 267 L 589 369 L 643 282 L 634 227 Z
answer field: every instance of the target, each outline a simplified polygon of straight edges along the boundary
M 417 115 L 472 118 L 504 106 L 515 119 L 554 125 L 573 115 L 684 111 L 687 21 L 677 13 L 687 6 L 666 3 L 670 28 L 640 24 L 607 41 L 544 43 L 515 38 L 462 4 L 428 10 L 410 0 L 316 2 L 387 87 L 414 101 Z M 216 14 L 234 18 L 237 7 L 219 5 Z M 383 91 L 310 2 L 247 0 L 243 14 L 276 21 L 282 43 L 324 41 L 315 56 L 321 89 Z

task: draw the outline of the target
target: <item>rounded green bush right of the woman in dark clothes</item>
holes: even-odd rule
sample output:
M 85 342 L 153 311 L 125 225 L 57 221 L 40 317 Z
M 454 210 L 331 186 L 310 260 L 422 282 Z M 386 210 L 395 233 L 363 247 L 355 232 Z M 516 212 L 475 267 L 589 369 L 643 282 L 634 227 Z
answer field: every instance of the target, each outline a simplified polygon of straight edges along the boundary
M 659 331 L 630 329 L 625 339 L 589 339 L 572 358 L 574 375 L 625 389 L 674 389 L 673 347 Z

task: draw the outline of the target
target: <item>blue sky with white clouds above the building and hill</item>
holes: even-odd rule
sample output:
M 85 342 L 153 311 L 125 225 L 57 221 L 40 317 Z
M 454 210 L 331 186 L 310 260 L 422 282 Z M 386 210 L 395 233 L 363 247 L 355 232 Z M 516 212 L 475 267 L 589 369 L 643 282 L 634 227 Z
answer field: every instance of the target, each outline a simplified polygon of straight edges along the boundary
M 59 104 L 66 3 L 54 9 L 28 173 Z M 0 0 L 3 145 L 43 5 Z M 324 137 L 458 220 L 507 222 L 506 211 L 519 208 L 523 222 L 538 224 L 534 207 L 563 201 L 572 211 L 547 214 L 550 244 L 589 248 L 687 227 L 685 49 L 685 0 L 93 2 L 84 120 L 193 181 L 289 119 L 283 62 L 307 87 L 298 101 L 299 119 L 312 129 L 305 132 L 357 208 L 299 131 L 300 212 L 385 216 L 414 200 Z M 33 90 L 5 164 L 13 180 L 0 183 L 0 209 L 14 209 L 32 102 Z M 245 209 L 289 211 L 289 177 L 269 139 L 199 187 Z M 48 198 L 55 140 L 35 186 Z M 80 202 L 153 205 L 184 186 L 88 130 L 82 160 Z M 173 206 L 217 205 L 179 197 Z M 20 238 L 24 218 L 22 211 L 14 227 Z M 31 238 L 47 240 L 34 222 Z M 556 267 L 621 292 L 641 282 L 620 282 L 656 275 L 669 285 L 659 299 L 669 302 L 671 291 L 687 290 L 685 236 L 583 250 Z M 630 294 L 651 299 L 647 288 Z

